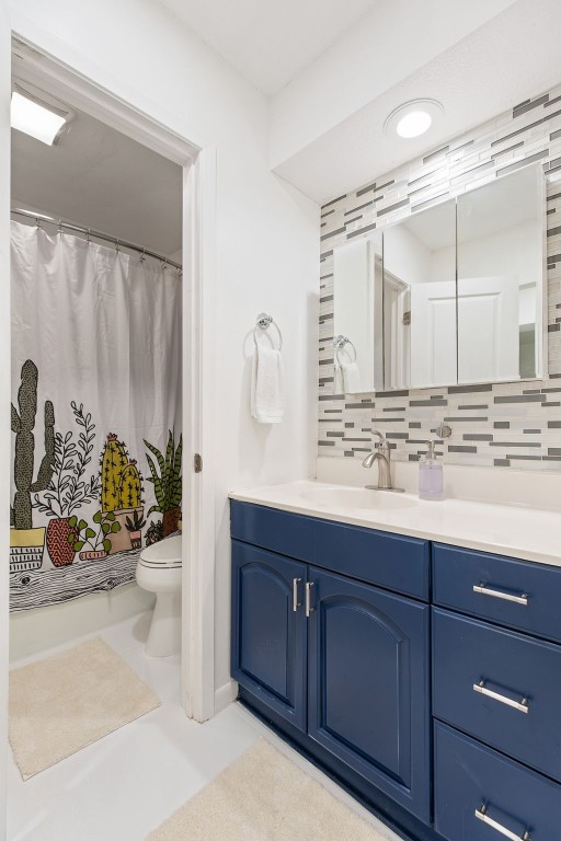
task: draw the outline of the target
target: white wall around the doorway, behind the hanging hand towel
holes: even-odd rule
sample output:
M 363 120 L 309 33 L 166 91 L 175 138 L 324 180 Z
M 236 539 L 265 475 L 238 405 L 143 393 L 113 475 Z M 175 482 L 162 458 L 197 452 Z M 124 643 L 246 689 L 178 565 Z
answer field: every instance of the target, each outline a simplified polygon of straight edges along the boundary
M 268 171 L 265 99 L 156 2 L 9 0 L 9 7 L 20 36 L 192 142 L 217 149 L 220 689 L 229 681 L 228 491 L 313 472 L 319 211 Z M 250 332 L 262 310 L 283 330 L 289 381 L 285 423 L 272 428 L 257 427 L 249 415 Z

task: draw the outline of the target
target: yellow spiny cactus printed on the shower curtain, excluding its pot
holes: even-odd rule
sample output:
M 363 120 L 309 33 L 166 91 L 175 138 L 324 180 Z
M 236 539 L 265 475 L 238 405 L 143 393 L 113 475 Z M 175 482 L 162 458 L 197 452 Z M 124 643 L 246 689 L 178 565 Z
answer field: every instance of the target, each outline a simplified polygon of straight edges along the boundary
M 128 459 L 123 441 L 114 433 L 107 435 L 101 456 L 101 509 L 119 511 L 140 508 L 142 505 L 142 477 L 136 461 Z

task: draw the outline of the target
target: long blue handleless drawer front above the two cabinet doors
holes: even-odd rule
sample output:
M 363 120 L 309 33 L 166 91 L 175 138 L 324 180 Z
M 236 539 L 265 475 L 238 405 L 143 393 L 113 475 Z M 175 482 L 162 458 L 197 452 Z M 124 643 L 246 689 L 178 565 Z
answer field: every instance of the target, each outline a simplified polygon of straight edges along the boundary
M 231 535 L 298 561 L 428 601 L 428 541 L 275 508 L 231 506 Z

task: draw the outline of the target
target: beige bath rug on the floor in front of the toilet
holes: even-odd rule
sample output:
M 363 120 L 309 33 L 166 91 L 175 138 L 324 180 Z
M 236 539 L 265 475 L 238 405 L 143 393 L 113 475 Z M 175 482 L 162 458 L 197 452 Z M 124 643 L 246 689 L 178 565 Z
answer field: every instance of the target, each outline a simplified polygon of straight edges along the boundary
M 100 637 L 10 672 L 10 742 L 24 780 L 160 706 Z

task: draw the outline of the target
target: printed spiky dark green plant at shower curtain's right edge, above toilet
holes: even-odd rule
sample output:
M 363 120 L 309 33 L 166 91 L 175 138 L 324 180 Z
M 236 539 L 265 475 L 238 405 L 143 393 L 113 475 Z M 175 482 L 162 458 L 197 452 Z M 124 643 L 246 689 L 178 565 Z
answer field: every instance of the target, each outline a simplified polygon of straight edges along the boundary
M 152 505 L 148 511 L 148 517 L 158 511 L 163 515 L 163 537 L 178 530 L 178 522 L 181 515 L 181 497 L 182 497 L 182 476 L 181 476 L 181 456 L 183 450 L 183 438 L 180 436 L 178 447 L 175 448 L 175 441 L 173 433 L 170 430 L 168 436 L 168 447 L 165 449 L 165 456 L 160 450 L 145 439 L 145 443 L 154 456 L 160 473 L 156 468 L 153 459 L 146 453 L 146 460 L 150 468 L 151 476 L 147 476 L 147 482 L 151 482 L 153 485 L 153 493 L 156 496 L 156 505 Z

